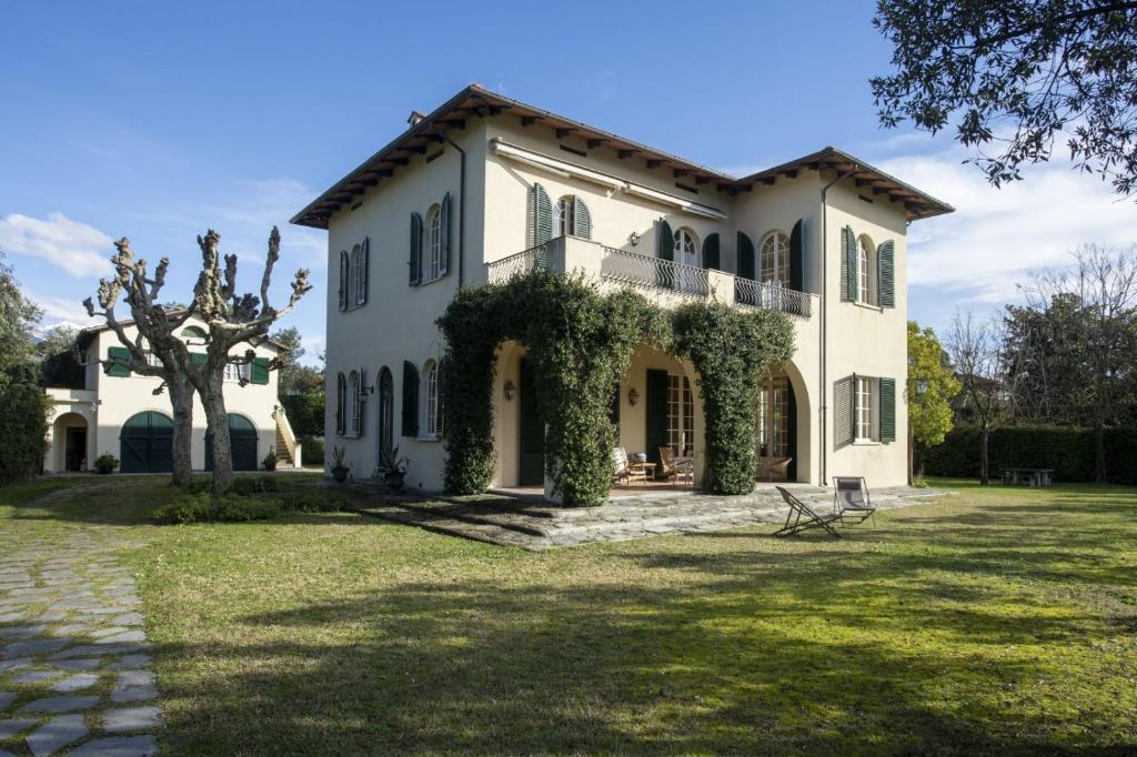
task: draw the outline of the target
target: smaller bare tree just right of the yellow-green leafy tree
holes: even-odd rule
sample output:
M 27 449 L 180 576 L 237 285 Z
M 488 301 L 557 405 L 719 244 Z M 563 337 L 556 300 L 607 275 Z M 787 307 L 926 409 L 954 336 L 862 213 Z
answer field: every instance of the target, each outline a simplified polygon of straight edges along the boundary
M 1016 361 L 1004 350 L 1002 330 L 1002 318 L 978 319 L 970 310 L 956 311 L 946 340 L 964 402 L 979 426 L 979 482 L 984 485 L 990 483 L 990 432 L 1011 417 L 1019 377 Z

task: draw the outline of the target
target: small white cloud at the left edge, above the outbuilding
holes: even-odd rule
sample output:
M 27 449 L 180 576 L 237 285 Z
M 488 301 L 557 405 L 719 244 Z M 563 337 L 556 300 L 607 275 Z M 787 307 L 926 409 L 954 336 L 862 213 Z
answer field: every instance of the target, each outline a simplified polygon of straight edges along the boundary
M 0 248 L 47 260 L 76 278 L 106 273 L 113 252 L 109 236 L 61 213 L 47 219 L 18 213 L 0 218 Z

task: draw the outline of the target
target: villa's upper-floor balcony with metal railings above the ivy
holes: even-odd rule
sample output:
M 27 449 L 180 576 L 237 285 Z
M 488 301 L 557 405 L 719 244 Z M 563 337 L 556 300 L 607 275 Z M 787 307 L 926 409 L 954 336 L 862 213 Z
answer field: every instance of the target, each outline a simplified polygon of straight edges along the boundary
M 815 294 L 780 284 L 739 278 L 649 255 L 604 247 L 598 242 L 561 236 L 485 264 L 489 283 L 503 283 L 536 269 L 579 272 L 601 285 L 634 286 L 659 305 L 709 299 L 741 308 L 764 308 L 798 318 L 813 315 Z

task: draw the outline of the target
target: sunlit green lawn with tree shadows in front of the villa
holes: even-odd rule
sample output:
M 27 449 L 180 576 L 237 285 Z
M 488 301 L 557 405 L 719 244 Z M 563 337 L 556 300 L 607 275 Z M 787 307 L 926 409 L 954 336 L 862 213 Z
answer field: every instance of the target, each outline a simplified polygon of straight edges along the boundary
M 106 480 L 94 480 L 99 483 Z M 1137 749 L 1137 490 L 980 489 L 836 541 L 547 552 L 355 515 L 155 526 L 155 480 L 20 533 L 128 535 L 166 754 Z

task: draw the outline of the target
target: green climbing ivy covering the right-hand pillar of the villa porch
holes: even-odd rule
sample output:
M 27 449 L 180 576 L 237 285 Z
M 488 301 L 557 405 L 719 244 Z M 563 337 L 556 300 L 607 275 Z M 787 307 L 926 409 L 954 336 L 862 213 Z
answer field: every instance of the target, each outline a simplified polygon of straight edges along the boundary
M 794 328 L 773 310 L 742 311 L 695 302 L 674 313 L 674 351 L 698 373 L 706 424 L 704 488 L 720 494 L 754 489 L 755 409 L 772 365 L 794 355 Z

